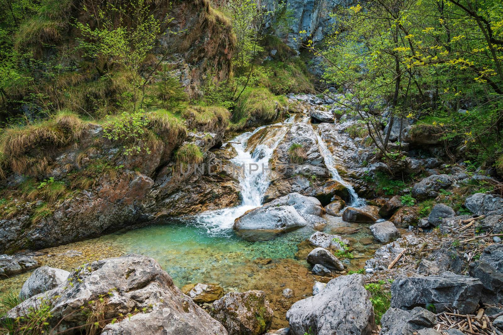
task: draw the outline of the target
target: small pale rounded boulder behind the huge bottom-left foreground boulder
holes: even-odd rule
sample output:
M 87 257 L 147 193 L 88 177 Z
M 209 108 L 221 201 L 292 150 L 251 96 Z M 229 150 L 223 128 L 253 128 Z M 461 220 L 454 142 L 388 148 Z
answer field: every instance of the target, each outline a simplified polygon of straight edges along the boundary
M 33 271 L 30 278 L 25 281 L 21 292 L 19 292 L 19 297 L 25 300 L 36 294 L 52 290 L 59 284 L 64 283 L 69 274 L 65 270 L 42 266 Z

